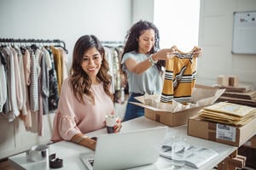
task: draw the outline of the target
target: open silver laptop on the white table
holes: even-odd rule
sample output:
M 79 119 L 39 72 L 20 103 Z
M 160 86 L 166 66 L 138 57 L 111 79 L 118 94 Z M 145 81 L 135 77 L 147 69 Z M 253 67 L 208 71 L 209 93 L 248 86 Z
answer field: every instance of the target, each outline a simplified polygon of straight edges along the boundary
M 80 157 L 89 170 L 115 170 L 148 165 L 160 156 L 167 127 L 102 134 L 93 153 Z

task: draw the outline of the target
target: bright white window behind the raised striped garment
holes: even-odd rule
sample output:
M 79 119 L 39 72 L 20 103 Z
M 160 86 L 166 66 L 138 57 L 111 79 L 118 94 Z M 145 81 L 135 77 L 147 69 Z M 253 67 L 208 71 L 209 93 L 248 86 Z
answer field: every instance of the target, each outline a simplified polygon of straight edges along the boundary
M 160 31 L 160 48 L 188 52 L 198 45 L 200 0 L 154 0 L 154 24 Z

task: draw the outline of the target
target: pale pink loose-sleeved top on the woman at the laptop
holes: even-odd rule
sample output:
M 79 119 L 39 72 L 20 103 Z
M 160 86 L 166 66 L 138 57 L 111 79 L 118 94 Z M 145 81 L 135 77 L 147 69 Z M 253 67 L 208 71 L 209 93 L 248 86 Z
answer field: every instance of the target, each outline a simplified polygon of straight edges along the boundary
M 74 97 L 73 89 L 63 82 L 55 113 L 52 141 L 70 140 L 76 133 L 89 133 L 105 127 L 105 116 L 113 112 L 113 101 L 103 90 L 103 83 L 92 85 L 93 105 L 84 96 L 85 104 Z

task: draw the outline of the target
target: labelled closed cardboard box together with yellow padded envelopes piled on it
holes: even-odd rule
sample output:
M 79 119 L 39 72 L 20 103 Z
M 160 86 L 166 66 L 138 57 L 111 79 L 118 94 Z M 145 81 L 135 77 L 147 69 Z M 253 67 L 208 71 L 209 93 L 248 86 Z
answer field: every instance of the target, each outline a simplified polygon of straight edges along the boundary
M 215 119 L 216 116 L 213 116 L 212 119 L 205 119 L 205 117 L 200 115 L 190 117 L 188 123 L 188 134 L 190 136 L 239 147 L 256 133 L 256 108 L 228 103 L 217 103 L 208 107 L 222 113 L 221 119 Z M 233 114 L 231 117 L 232 120 L 225 120 L 223 122 L 222 120 L 230 118 L 230 114 L 224 116 L 224 112 L 236 112 L 236 114 Z M 212 115 L 214 115 L 214 113 L 212 113 Z M 240 119 L 241 116 L 246 117 L 247 115 L 249 115 L 250 118 L 247 119 L 246 123 L 237 125 L 233 122 L 233 117 Z

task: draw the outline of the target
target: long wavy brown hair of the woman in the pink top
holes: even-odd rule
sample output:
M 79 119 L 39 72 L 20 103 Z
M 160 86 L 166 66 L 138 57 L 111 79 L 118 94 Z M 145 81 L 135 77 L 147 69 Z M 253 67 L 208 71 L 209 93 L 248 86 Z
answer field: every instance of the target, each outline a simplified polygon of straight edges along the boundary
M 70 70 L 69 83 L 73 88 L 73 93 L 75 98 L 79 100 L 80 103 L 84 104 L 83 96 L 84 94 L 90 99 L 90 101 L 95 104 L 95 99 L 90 91 L 91 80 L 87 73 L 82 69 L 81 63 L 83 62 L 84 52 L 90 48 L 96 48 L 102 55 L 102 65 L 100 71 L 97 73 L 96 77 L 103 82 L 103 88 L 106 94 L 113 99 L 113 94 L 110 93 L 109 87 L 111 85 L 111 76 L 108 74 L 109 66 L 108 61 L 105 59 L 105 50 L 102 47 L 102 43 L 94 35 L 85 35 L 79 37 L 79 40 L 75 43 L 73 49 L 73 63 Z

